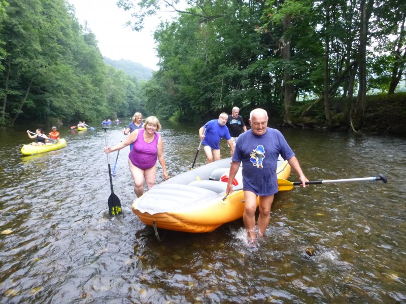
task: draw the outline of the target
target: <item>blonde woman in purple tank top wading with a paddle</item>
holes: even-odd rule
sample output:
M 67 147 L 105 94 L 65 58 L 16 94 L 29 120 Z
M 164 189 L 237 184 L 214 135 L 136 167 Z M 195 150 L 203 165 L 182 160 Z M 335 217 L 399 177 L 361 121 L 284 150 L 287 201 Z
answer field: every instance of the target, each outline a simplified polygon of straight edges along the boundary
M 137 197 L 144 193 L 144 179 L 148 189 L 155 184 L 157 159 L 162 167 L 163 178 L 168 178 L 163 157 L 163 141 L 157 133 L 160 129 L 159 120 L 155 116 L 150 116 L 145 120 L 143 128 L 131 132 L 125 140 L 115 146 L 105 147 L 105 152 L 111 153 L 132 144 L 132 150 L 128 155 L 128 167 L 134 180 L 134 193 Z

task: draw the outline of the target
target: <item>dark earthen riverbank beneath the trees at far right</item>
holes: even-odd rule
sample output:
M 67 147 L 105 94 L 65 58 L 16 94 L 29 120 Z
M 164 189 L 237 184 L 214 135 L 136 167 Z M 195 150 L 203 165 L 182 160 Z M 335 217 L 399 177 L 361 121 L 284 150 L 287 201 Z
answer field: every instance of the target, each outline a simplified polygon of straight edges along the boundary
M 331 99 L 332 129 L 352 131 L 349 109 L 353 99 Z M 313 104 L 313 106 L 311 106 Z M 310 109 L 309 109 L 310 108 Z M 324 129 L 324 102 L 309 100 L 297 102 L 292 107 L 292 122 L 295 127 Z M 362 133 L 406 134 L 406 93 L 393 95 L 370 95 L 366 99 Z

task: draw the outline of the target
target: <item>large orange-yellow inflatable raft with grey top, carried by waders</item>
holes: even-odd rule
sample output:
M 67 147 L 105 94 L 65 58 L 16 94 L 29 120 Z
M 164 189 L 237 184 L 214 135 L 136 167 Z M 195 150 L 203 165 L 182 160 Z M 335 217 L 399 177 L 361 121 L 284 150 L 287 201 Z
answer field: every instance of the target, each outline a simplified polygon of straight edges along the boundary
M 172 177 L 134 200 L 132 212 L 149 226 L 205 233 L 239 219 L 244 213 L 242 168 L 225 198 L 231 158 L 222 159 Z M 278 160 L 278 178 L 287 179 L 290 166 Z M 258 202 L 257 202 L 258 204 Z

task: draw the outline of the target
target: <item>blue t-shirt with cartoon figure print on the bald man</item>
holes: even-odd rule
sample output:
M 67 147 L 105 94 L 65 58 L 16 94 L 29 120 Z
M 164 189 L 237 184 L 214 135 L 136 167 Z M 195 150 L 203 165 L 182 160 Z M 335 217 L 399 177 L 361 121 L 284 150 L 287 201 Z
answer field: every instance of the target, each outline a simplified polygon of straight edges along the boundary
M 232 160 L 243 162 L 244 190 L 259 196 L 269 196 L 278 192 L 276 169 L 278 157 L 289 160 L 295 154 L 282 133 L 266 128 L 260 136 L 248 130 L 236 142 Z

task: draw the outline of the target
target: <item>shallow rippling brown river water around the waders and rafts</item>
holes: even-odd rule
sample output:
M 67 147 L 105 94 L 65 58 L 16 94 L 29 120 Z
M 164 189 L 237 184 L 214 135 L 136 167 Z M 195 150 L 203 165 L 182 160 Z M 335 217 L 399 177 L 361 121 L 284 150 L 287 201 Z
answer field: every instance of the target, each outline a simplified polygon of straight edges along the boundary
M 250 248 L 242 219 L 207 234 L 160 230 L 158 242 L 131 213 L 128 147 L 113 177 L 125 216 L 110 219 L 105 135 L 92 126 L 60 127 L 65 148 L 28 157 L 26 129 L 0 130 L 1 303 L 406 302 L 406 138 L 281 130 L 310 180 L 382 173 L 388 183 L 281 192 Z M 109 144 L 123 126 L 111 126 Z M 198 127 L 163 123 L 170 176 L 190 168 Z M 195 167 L 204 163 L 201 151 Z

